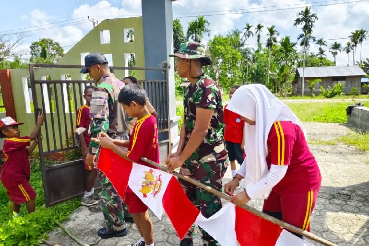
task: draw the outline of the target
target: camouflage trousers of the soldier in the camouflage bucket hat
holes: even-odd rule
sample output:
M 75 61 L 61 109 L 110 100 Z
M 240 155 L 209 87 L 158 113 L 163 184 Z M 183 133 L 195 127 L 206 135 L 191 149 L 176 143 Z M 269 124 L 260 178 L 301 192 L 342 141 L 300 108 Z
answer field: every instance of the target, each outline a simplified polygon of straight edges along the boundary
M 207 162 L 207 163 L 192 163 L 186 160 L 180 168 L 180 173 L 191 178 L 200 181 L 201 183 L 214 188 L 215 190 L 222 191 L 222 178 L 227 170 L 228 161 L 223 162 Z M 213 195 L 185 180 L 178 180 L 186 193 L 189 200 L 200 210 L 201 214 L 205 218 L 211 217 L 222 208 L 222 202 L 219 197 Z M 184 238 L 192 238 L 195 226 L 193 225 L 187 232 Z M 205 232 L 199 226 L 202 234 L 204 245 L 206 246 L 219 246 L 220 244 L 207 232 Z

